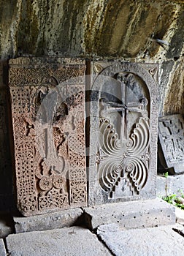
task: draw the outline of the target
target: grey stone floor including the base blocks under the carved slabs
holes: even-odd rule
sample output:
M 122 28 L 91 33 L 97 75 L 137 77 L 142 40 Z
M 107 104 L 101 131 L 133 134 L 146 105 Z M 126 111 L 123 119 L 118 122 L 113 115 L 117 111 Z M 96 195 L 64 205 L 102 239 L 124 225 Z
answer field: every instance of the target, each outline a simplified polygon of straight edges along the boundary
M 183 189 L 183 178 L 158 176 L 158 198 L 145 202 L 28 218 L 0 214 L 0 256 L 182 256 L 184 211 L 161 197 L 166 186 L 169 194 Z

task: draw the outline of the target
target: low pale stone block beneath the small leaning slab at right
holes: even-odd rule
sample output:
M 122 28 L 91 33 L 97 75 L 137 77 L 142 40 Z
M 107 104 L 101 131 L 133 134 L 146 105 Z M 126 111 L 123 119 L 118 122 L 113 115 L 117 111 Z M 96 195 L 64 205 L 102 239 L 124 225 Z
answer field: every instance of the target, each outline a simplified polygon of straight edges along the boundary
M 164 173 L 165 171 L 163 171 Z M 158 175 L 156 178 L 156 194 L 157 196 L 166 196 L 166 189 L 167 194 L 180 194 L 184 193 L 184 175 L 175 175 L 175 176 L 168 176 L 165 178 L 164 176 Z

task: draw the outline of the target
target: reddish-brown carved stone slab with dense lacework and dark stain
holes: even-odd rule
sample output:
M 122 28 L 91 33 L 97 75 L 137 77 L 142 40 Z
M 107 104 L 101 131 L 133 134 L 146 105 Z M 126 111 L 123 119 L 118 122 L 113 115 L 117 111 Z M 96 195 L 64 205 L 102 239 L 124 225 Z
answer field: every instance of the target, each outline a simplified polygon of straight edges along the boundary
M 9 61 L 18 209 L 24 216 L 86 206 L 85 62 Z

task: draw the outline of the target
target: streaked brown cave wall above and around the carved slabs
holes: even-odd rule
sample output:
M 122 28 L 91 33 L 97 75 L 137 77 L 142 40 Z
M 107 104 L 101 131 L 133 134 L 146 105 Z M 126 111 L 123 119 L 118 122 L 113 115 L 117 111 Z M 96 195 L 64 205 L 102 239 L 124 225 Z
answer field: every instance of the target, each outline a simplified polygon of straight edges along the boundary
M 183 0 L 0 0 L 0 132 L 11 131 L 7 61 L 18 56 L 158 63 L 159 116 L 184 114 L 183 7 Z M 0 135 L 2 205 L 4 193 L 12 198 L 5 178 L 12 165 L 11 135 Z

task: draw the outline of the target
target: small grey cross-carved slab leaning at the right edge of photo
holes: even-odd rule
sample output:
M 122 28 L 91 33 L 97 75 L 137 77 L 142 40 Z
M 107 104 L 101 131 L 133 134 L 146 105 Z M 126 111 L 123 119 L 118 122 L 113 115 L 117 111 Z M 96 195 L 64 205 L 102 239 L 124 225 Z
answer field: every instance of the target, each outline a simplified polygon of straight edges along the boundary
M 161 164 L 169 173 L 184 173 L 184 120 L 181 115 L 158 119 Z

